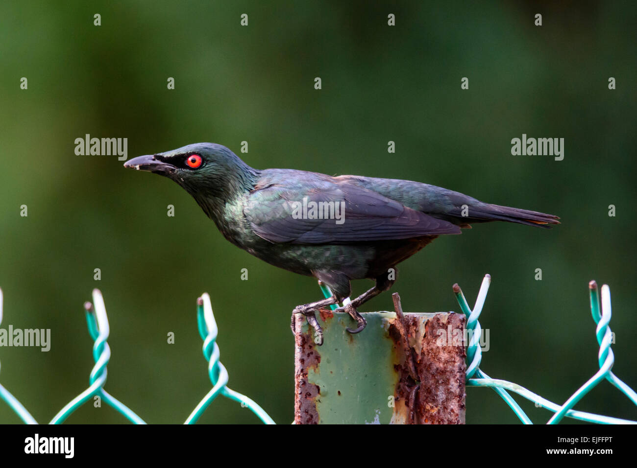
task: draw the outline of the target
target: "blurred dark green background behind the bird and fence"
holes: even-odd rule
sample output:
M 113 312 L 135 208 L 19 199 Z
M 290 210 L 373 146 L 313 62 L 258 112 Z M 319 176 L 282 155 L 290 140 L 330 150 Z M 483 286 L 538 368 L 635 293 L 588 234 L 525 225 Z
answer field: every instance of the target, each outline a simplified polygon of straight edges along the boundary
M 613 370 L 637 388 L 636 13 L 601 1 L 2 2 L 1 326 L 50 328 L 52 348 L 0 348 L 0 382 L 39 422 L 81 392 L 93 365 L 82 304 L 98 287 L 106 389 L 149 423 L 181 423 L 210 389 L 195 314 L 207 291 L 229 385 L 292 421 L 290 311 L 320 297 L 315 281 L 225 241 L 175 183 L 116 156 L 76 156 L 88 133 L 128 138 L 129 158 L 213 141 L 261 169 L 406 178 L 557 214 L 553 230 L 490 223 L 440 238 L 401 264 L 394 291 L 406 311 L 457 311 L 452 284 L 473 304 L 490 273 L 482 368 L 563 402 L 598 369 L 587 283 L 608 283 Z M 512 156 L 522 133 L 564 138 L 564 160 Z M 363 310 L 391 308 L 383 294 Z M 536 422 L 550 416 L 522 406 Z M 608 383 L 577 408 L 637 419 Z M 89 404 L 68 421 L 124 418 Z M 19 420 L 0 404 L 0 422 Z M 257 418 L 219 399 L 201 422 Z M 468 388 L 467 422 L 517 418 L 491 390 Z

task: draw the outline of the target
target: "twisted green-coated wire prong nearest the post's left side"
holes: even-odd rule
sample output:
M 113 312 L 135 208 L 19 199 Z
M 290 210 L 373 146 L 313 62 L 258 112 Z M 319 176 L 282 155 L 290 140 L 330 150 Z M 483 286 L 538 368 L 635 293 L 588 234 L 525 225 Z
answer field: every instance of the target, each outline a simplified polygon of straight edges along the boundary
M 212 305 L 210 303 L 210 296 L 208 293 L 204 293 L 197 299 L 197 327 L 201 339 L 203 339 L 203 356 L 208 361 L 208 376 L 212 382 L 212 389 L 205 397 L 197 404 L 196 408 L 190 413 L 185 424 L 194 424 L 199 419 L 199 416 L 208 408 L 211 402 L 217 398 L 218 395 L 240 402 L 241 406 L 250 408 L 250 410 L 259 417 L 259 419 L 266 424 L 274 424 L 275 422 L 266 413 L 261 406 L 259 406 L 254 400 L 242 395 L 234 390 L 231 390 L 226 385 L 228 383 L 228 372 L 224 365 L 219 361 L 220 351 L 217 344 L 217 321 L 212 311 Z

